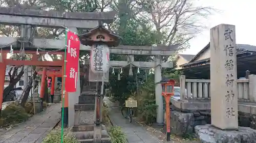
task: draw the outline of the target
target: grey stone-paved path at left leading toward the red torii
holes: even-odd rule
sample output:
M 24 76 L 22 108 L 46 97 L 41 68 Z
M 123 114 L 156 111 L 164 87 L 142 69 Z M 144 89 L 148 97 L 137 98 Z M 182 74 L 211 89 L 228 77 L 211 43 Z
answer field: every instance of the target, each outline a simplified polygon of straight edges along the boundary
M 53 104 L 25 123 L 10 130 L 0 130 L 0 143 L 40 143 L 60 121 L 59 111 L 60 103 Z

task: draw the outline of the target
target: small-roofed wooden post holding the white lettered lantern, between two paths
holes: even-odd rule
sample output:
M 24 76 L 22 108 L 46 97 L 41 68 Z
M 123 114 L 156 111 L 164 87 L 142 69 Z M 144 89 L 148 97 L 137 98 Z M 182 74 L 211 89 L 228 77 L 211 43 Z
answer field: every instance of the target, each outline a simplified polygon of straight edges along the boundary
M 93 28 L 87 33 L 79 35 L 81 44 L 91 46 L 89 81 L 97 82 L 97 95 L 95 97 L 95 126 L 94 142 L 101 142 L 102 102 L 104 83 L 109 81 L 109 47 L 119 45 L 120 37 L 102 26 Z

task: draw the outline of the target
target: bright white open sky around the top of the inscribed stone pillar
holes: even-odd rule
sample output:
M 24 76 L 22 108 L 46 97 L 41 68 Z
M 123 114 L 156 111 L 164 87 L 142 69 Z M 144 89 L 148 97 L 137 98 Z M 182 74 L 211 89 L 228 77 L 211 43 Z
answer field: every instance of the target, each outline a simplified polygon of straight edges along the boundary
M 190 40 L 190 48 L 181 52 L 183 54 L 197 54 L 210 40 L 210 28 L 219 24 L 236 26 L 237 44 L 256 46 L 256 1 L 255 0 L 199 0 L 197 5 L 213 7 L 219 13 L 214 13 L 203 20 L 207 29 L 196 38 Z

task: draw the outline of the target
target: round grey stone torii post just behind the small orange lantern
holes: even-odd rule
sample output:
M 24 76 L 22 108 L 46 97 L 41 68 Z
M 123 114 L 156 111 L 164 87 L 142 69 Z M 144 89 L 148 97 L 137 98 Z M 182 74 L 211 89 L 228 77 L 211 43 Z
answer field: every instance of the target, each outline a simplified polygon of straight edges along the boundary
M 160 82 L 162 79 L 162 73 L 161 73 L 161 56 L 156 55 L 155 56 L 155 62 L 156 62 L 156 67 L 155 67 L 155 96 L 156 96 L 156 104 L 158 105 L 157 107 L 157 123 L 159 125 L 163 125 L 164 121 L 164 113 L 163 113 L 163 96 L 162 96 L 162 86 Z

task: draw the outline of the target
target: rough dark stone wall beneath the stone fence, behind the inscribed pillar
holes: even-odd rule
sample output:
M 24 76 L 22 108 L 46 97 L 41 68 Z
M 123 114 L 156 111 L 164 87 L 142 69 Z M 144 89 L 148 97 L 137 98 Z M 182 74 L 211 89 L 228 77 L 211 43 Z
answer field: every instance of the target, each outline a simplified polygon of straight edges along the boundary
M 210 110 L 179 110 L 170 111 L 170 129 L 172 134 L 186 135 L 195 132 L 195 126 L 211 124 Z M 256 129 L 256 116 L 239 112 L 239 126 Z M 163 127 L 166 132 L 166 126 Z

